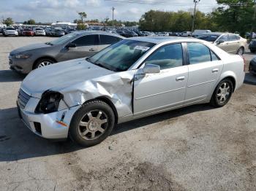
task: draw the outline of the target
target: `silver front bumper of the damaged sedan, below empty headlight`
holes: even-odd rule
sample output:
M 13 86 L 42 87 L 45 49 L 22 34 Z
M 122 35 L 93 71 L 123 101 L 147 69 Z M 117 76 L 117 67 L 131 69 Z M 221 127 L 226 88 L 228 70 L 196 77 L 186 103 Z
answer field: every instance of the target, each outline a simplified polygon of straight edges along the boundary
M 38 103 L 38 98 L 31 97 L 24 109 L 17 104 L 18 114 L 24 124 L 33 133 L 37 134 L 37 136 L 41 136 L 42 138 L 67 139 L 72 116 L 80 106 L 74 106 L 72 108 L 63 109 L 59 112 L 53 112 L 50 114 L 37 114 L 34 113 L 34 109 Z M 59 122 L 62 122 L 62 125 Z

